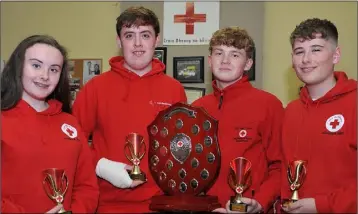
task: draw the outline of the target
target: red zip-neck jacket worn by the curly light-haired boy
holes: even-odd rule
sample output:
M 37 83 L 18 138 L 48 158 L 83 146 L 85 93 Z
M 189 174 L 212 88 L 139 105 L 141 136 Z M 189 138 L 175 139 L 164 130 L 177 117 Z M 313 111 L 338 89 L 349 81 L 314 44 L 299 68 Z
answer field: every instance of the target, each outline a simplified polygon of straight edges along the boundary
M 214 94 L 195 101 L 219 121 L 221 171 L 209 195 L 217 195 L 222 206 L 234 196 L 227 182 L 229 163 L 243 156 L 252 163 L 252 185 L 245 197 L 256 199 L 267 211 L 280 193 L 281 118 L 283 107 L 273 95 L 251 86 L 247 76 Z M 221 100 L 221 101 L 220 101 Z

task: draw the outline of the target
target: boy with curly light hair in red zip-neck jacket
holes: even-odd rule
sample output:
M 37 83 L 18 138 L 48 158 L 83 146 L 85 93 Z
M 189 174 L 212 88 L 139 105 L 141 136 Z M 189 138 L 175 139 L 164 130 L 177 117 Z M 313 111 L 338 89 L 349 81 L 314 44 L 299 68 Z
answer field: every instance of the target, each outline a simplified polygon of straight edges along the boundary
M 214 93 L 196 100 L 219 121 L 218 141 L 221 171 L 209 195 L 217 195 L 229 209 L 235 191 L 228 185 L 229 164 L 237 157 L 252 166 L 252 184 L 243 193 L 248 213 L 267 212 L 280 194 L 282 103 L 272 94 L 252 87 L 247 71 L 253 60 L 254 41 L 246 30 L 228 27 L 216 31 L 210 40 L 209 66 L 215 76 Z

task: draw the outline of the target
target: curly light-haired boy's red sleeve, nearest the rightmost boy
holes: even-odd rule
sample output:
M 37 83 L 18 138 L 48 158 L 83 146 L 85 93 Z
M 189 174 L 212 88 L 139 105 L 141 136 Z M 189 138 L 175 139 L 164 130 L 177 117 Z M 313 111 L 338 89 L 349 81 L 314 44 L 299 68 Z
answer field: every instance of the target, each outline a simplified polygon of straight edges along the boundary
M 282 163 L 281 124 L 284 113 L 282 103 L 278 99 L 275 99 L 269 105 L 262 136 L 262 144 L 265 148 L 268 162 L 268 176 L 254 196 L 265 212 L 272 207 L 280 195 Z

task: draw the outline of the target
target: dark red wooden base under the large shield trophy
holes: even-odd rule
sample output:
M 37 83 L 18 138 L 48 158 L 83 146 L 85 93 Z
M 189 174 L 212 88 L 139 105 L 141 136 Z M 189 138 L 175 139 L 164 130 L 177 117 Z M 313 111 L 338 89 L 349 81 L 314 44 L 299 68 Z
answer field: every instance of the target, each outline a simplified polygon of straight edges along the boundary
M 220 208 L 217 196 L 153 196 L 149 209 L 164 212 L 210 212 Z

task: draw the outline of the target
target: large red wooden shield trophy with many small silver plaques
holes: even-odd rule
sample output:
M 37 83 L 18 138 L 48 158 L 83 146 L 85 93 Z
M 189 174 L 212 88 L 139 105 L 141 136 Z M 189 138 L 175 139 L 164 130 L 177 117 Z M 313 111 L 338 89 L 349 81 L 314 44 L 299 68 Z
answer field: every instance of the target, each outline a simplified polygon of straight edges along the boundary
M 220 171 L 218 122 L 203 108 L 176 103 L 148 126 L 149 169 L 163 195 L 153 211 L 212 211 L 221 207 L 206 193 Z

